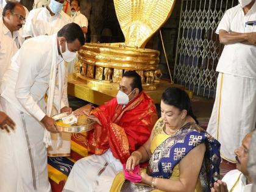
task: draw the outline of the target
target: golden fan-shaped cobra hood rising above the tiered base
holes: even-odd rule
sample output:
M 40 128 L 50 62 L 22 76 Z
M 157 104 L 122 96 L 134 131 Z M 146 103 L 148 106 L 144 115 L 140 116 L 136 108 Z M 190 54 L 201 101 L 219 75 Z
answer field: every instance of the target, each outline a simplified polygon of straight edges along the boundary
M 144 48 L 149 38 L 168 20 L 174 2 L 175 0 L 114 0 L 126 46 Z

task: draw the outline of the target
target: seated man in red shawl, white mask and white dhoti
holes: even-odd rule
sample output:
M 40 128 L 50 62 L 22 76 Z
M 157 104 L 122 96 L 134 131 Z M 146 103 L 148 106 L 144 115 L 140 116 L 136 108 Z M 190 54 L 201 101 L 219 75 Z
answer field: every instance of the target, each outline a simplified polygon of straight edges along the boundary
M 88 151 L 94 155 L 74 164 L 63 191 L 109 191 L 122 163 L 148 140 L 157 121 L 154 102 L 142 90 L 141 77 L 126 71 L 116 98 L 92 111 L 85 105 L 74 113 L 97 122 L 87 133 Z

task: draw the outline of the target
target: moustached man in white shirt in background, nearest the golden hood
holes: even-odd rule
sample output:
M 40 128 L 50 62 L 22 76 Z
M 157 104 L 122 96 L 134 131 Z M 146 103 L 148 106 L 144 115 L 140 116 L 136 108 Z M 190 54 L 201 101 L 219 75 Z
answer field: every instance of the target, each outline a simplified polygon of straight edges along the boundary
M 71 0 L 69 4 L 71 7 L 71 17 L 74 23 L 78 24 L 81 27 L 84 34 L 87 34 L 88 20 L 85 15 L 80 13 L 80 1 Z

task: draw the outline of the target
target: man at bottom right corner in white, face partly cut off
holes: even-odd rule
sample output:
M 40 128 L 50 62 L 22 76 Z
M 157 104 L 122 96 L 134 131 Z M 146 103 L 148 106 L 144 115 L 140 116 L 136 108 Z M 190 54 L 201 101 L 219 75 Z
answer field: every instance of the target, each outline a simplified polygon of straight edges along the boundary
M 252 178 L 249 176 L 247 162 L 253 132 L 247 133 L 242 145 L 235 149 L 236 169 L 229 171 L 222 180 L 215 182 L 212 192 L 251 192 Z

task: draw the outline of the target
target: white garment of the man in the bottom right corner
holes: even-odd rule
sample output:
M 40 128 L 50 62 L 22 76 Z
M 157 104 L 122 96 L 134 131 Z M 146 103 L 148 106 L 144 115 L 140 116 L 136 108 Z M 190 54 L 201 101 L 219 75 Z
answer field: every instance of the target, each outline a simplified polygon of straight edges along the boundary
M 227 183 L 227 189 L 232 192 L 252 192 L 252 184 L 246 185 L 246 177 L 237 169 L 227 172 L 222 178 Z

